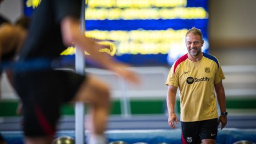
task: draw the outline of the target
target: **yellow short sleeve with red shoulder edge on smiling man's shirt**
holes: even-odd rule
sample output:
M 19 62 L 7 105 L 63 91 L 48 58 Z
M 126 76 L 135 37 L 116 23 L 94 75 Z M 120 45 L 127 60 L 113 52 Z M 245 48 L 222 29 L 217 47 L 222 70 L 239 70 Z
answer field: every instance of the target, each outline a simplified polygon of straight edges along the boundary
M 168 74 L 168 77 L 166 79 L 166 82 L 165 84 L 166 85 L 173 85 L 175 87 L 178 87 L 179 84 L 178 84 L 178 68 L 175 69 L 175 73 L 174 73 L 174 66 L 175 66 L 175 63 L 177 61 L 175 61 L 169 71 L 169 74 Z

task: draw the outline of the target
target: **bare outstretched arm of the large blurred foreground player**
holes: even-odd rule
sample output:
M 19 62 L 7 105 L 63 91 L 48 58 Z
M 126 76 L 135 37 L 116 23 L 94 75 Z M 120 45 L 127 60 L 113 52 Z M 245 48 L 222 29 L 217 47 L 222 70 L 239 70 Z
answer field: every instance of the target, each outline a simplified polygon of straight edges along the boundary
M 91 54 L 88 58 L 94 62 L 98 62 L 102 67 L 114 71 L 130 82 L 139 82 L 137 75 L 125 69 L 127 67 L 126 65 L 116 62 L 111 59 L 111 57 L 98 52 L 102 45 L 95 43 L 91 38 L 85 37 L 85 35 L 81 33 L 77 19 L 72 17 L 63 18 L 61 21 L 61 33 L 65 45 L 68 46 L 75 43 L 78 49 Z

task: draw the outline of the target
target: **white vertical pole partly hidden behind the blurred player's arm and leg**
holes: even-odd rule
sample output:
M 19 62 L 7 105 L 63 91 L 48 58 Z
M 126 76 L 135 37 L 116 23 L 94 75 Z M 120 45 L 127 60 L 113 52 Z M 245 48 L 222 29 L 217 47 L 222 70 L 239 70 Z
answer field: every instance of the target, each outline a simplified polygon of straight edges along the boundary
M 84 33 L 85 30 L 85 0 L 82 0 L 82 9 L 81 9 L 81 31 Z M 76 47 L 75 55 L 75 67 L 76 73 L 84 75 L 85 69 L 85 59 L 84 52 Z M 76 143 L 84 144 L 84 103 L 76 102 L 75 106 L 75 134 L 76 134 Z

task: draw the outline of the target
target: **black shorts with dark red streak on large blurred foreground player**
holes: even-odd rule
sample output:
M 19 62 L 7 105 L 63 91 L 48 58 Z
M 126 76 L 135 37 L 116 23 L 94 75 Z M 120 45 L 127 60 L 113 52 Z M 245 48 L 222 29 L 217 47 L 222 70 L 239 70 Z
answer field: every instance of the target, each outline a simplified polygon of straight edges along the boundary
M 28 137 L 53 135 L 60 106 L 75 97 L 86 76 L 72 71 L 42 70 L 14 74 L 14 87 L 23 103 L 23 131 Z

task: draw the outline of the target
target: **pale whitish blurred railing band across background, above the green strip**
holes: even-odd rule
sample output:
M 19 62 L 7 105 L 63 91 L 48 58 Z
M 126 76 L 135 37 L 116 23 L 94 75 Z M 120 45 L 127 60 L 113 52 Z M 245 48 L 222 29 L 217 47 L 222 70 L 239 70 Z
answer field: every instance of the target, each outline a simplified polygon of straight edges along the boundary
M 124 117 L 130 116 L 130 99 L 165 99 L 167 86 L 165 81 L 170 67 L 132 67 L 141 78 L 140 85 L 133 85 L 108 70 L 86 68 L 86 73 L 106 82 L 113 99 L 121 100 Z M 256 96 L 256 66 L 222 66 L 226 79 L 223 80 L 227 98 L 252 98 Z M 72 70 L 73 69 L 65 69 Z M 2 75 L 2 99 L 18 99 L 13 88 Z M 178 96 L 178 94 L 177 94 Z

